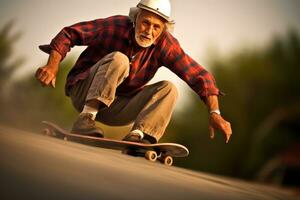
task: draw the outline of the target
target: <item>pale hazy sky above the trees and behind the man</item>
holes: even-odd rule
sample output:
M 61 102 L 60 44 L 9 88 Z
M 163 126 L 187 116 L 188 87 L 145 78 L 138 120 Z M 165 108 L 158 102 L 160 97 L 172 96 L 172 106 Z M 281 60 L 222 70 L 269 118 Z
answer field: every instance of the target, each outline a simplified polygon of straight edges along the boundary
M 26 58 L 16 78 L 46 63 L 47 54 L 38 45 L 46 44 L 63 28 L 80 21 L 127 15 L 138 0 L 0 0 L 0 27 L 15 20 L 12 32 L 21 31 L 15 56 Z M 299 0 L 171 0 L 173 35 L 197 62 L 208 70 L 209 51 L 230 55 L 239 47 L 266 45 L 274 35 L 294 28 L 300 32 Z M 78 56 L 82 47 L 69 55 Z M 179 88 L 179 105 L 187 102 L 187 86 L 166 69 L 152 82 L 170 80 Z M 217 80 L 218 82 L 218 80 Z

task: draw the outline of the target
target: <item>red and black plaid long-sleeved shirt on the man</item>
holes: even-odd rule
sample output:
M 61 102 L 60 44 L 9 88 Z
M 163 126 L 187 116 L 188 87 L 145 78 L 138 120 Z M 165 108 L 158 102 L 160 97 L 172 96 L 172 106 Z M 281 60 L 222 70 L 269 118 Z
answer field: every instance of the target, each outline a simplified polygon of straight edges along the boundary
M 117 94 L 140 90 L 161 66 L 177 74 L 201 99 L 220 94 L 213 76 L 189 57 L 169 32 L 162 33 L 152 46 L 139 48 L 134 40 L 133 24 L 127 16 L 112 16 L 65 27 L 50 45 L 41 45 L 40 49 L 46 53 L 54 49 L 64 58 L 75 45 L 87 48 L 68 74 L 67 95 L 75 83 L 87 78 L 97 61 L 114 51 L 127 55 L 131 63 L 129 76 L 118 87 Z

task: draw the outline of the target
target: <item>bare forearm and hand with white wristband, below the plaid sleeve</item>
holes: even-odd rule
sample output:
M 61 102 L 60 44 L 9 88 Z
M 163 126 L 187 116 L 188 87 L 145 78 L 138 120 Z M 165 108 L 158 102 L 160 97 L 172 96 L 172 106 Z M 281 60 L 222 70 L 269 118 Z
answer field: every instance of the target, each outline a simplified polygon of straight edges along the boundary
M 211 95 L 206 98 L 206 105 L 209 111 L 209 133 L 210 138 L 213 139 L 215 130 L 222 131 L 225 137 L 225 142 L 228 143 L 232 135 L 231 125 L 223 119 L 219 111 L 219 102 L 216 95 Z

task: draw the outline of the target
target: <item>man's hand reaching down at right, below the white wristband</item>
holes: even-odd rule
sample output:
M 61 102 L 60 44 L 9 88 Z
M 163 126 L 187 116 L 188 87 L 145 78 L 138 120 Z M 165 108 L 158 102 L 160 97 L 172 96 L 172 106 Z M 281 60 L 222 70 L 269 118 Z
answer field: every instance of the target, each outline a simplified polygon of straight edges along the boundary
M 210 138 L 213 139 L 215 136 L 215 131 L 217 129 L 221 130 L 224 134 L 225 142 L 228 143 L 230 136 L 232 135 L 231 125 L 229 122 L 223 119 L 223 117 L 216 113 L 211 113 L 209 116 L 209 133 Z

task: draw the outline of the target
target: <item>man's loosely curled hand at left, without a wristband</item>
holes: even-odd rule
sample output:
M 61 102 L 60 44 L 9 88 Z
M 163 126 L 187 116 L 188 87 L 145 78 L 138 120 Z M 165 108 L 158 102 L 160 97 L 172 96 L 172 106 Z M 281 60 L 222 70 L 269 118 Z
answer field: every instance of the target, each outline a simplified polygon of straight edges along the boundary
M 51 85 L 53 88 L 55 88 L 57 71 L 58 67 L 45 65 L 36 70 L 35 77 L 40 81 L 42 86 Z

